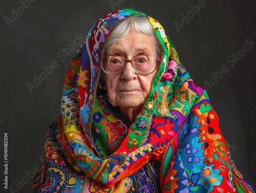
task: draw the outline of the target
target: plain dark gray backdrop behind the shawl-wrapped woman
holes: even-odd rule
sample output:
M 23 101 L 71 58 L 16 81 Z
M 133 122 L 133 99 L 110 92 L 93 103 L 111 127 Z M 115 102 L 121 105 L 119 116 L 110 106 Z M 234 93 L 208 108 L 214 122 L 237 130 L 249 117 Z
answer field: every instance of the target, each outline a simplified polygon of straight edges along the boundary
M 181 23 L 190 5 L 199 1 L 130 1 L 117 2 L 115 9 L 134 8 L 157 18 L 173 40 L 180 61 L 200 87 L 209 81 L 212 71 L 226 65 L 229 72 L 208 91 L 211 103 L 220 118 L 220 127 L 237 168 L 256 188 L 255 183 L 255 50 L 251 48 L 232 67 L 227 57 L 243 48 L 245 39 L 255 39 L 255 1 L 210 1 L 177 31 L 174 22 Z M 118 3 L 119 2 L 119 3 Z M 11 18 L 19 1 L 1 2 L 1 159 L 4 160 L 3 137 L 9 139 L 9 187 L 17 181 L 27 184 L 19 192 L 32 192 L 32 180 L 25 170 L 41 165 L 44 137 L 48 126 L 60 114 L 63 79 L 71 64 L 72 52 L 61 61 L 56 53 L 72 44 L 75 34 L 88 34 L 91 26 L 113 11 L 109 1 L 41 1 L 36 0 L 8 27 L 4 20 Z M 78 48 L 78 47 L 77 47 Z M 27 82 L 43 72 L 51 61 L 59 63 L 52 74 L 32 93 Z M 2 162 L 3 163 L 3 162 Z M 2 165 L 2 164 L 1 164 Z M 3 166 L 1 167 L 3 168 Z M 3 192 L 4 168 L 0 170 Z M 32 174 L 32 171 L 30 171 Z M 4 192 L 6 191 L 4 189 Z

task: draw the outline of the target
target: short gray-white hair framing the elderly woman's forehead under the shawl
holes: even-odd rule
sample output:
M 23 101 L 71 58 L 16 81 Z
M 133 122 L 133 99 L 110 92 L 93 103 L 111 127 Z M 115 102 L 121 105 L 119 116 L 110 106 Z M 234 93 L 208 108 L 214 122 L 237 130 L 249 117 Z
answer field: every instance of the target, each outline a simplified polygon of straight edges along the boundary
M 129 32 L 131 27 L 136 33 L 142 33 L 142 34 L 153 37 L 153 44 L 154 44 L 153 47 L 155 52 L 154 54 L 156 55 L 157 59 L 161 59 L 162 48 L 151 24 L 148 22 L 148 20 L 145 17 L 138 16 L 138 15 L 127 18 L 116 27 L 116 29 L 112 32 L 108 42 L 106 42 L 105 53 L 108 52 L 108 49 L 113 44 L 115 44 L 115 42 L 120 37 L 126 35 Z

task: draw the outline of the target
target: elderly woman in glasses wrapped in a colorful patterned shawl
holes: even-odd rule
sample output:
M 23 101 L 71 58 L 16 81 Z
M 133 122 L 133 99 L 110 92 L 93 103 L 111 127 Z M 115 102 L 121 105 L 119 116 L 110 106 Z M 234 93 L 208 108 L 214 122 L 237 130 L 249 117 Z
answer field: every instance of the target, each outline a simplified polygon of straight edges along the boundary
M 124 9 L 73 57 L 34 192 L 253 192 L 164 29 Z

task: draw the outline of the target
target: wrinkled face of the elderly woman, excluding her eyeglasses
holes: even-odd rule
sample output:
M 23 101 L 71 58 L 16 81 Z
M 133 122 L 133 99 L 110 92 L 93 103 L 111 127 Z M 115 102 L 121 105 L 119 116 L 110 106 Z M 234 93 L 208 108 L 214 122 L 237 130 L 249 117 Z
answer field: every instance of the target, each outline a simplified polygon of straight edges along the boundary
M 109 48 L 108 54 L 121 55 L 130 60 L 138 54 L 154 55 L 153 37 L 135 33 L 131 27 L 125 36 L 119 38 L 116 44 Z M 151 90 L 156 73 L 157 70 L 148 75 L 137 74 L 128 61 L 120 74 L 104 73 L 110 103 L 113 106 L 118 105 L 121 109 L 142 106 Z

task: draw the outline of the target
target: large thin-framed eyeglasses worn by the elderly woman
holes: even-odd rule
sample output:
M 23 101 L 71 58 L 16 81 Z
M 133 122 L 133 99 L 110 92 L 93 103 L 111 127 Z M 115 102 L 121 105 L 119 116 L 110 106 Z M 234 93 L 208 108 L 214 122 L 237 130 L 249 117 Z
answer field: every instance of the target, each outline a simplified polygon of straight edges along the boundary
M 156 56 L 151 54 L 139 54 L 132 58 L 132 60 L 125 59 L 123 56 L 110 54 L 101 58 L 101 68 L 106 74 L 121 73 L 127 62 L 131 62 L 132 67 L 138 74 L 151 74 L 156 70 L 157 62 Z

